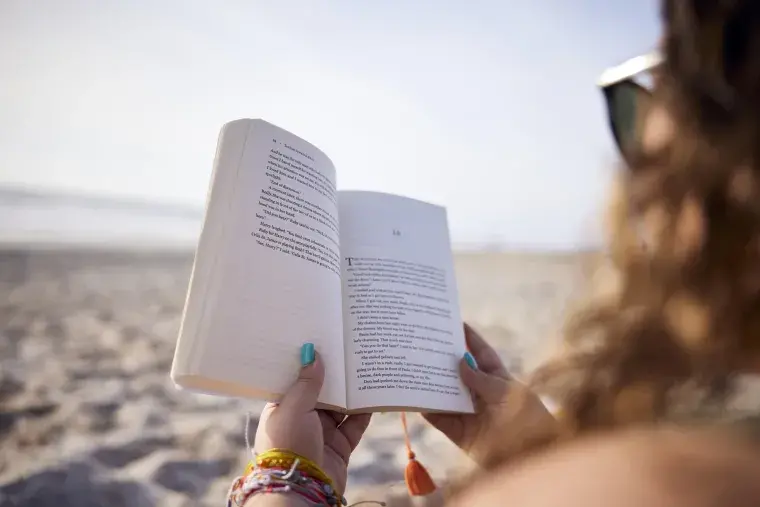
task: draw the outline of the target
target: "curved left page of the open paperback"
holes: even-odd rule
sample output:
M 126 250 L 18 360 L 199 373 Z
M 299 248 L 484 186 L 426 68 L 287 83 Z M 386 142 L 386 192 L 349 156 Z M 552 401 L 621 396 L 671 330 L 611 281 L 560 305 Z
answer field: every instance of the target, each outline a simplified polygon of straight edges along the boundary
M 303 343 L 325 362 L 320 403 L 346 407 L 335 168 L 263 120 L 219 137 L 172 379 L 277 400 Z

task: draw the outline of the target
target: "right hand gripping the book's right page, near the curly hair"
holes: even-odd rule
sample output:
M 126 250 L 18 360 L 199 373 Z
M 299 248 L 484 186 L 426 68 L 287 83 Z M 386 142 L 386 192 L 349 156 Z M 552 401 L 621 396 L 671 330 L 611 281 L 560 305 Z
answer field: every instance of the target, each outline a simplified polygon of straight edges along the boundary
M 513 438 L 522 438 L 525 431 L 553 426 L 555 420 L 538 396 L 509 375 L 496 351 L 474 329 L 465 324 L 464 334 L 470 357 L 468 360 L 465 355 L 459 371 L 462 382 L 473 394 L 475 413 L 430 413 L 423 417 L 476 463 L 484 465 L 491 450 L 484 437 L 495 426 L 509 426 L 513 431 L 508 433 Z

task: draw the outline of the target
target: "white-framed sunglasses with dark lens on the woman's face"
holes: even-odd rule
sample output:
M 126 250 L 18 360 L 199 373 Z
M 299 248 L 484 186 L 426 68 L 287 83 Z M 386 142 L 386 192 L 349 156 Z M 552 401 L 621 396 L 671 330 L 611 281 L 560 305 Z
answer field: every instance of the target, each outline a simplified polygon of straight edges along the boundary
M 652 52 L 607 69 L 599 78 L 610 129 L 626 160 L 640 142 L 643 121 L 652 102 L 652 71 L 660 64 L 662 56 Z

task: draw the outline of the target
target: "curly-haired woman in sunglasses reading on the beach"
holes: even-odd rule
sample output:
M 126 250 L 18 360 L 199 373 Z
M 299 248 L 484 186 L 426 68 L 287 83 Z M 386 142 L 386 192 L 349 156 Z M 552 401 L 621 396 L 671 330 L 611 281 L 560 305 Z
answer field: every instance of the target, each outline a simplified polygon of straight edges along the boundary
M 463 360 L 461 375 L 479 411 L 428 416 L 482 466 L 448 505 L 760 504 L 760 425 L 724 410 L 738 376 L 760 374 L 760 2 L 664 0 L 662 14 L 651 97 L 605 83 L 626 160 L 609 214 L 616 276 L 533 380 L 561 400 L 559 421 L 468 330 L 477 366 Z M 304 359 L 255 448 L 289 449 L 343 491 L 369 418 L 315 412 L 322 365 Z M 246 505 L 309 505 L 304 494 Z

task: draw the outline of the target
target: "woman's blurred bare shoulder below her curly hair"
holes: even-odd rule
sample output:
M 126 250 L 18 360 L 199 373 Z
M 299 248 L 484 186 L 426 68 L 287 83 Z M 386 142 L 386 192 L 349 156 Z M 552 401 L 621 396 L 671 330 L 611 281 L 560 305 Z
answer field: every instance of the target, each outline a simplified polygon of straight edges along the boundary
M 569 444 L 489 474 L 451 502 L 531 507 L 752 507 L 760 448 L 715 431 L 636 430 Z

